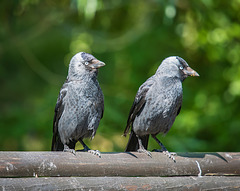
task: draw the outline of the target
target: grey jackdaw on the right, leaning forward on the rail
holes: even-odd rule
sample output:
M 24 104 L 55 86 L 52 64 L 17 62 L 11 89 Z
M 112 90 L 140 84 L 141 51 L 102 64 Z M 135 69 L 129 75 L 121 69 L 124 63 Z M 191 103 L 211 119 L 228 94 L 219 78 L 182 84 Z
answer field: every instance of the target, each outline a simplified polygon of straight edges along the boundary
M 156 73 L 148 78 L 138 89 L 130 109 L 124 136 L 129 133 L 125 152 L 138 151 L 152 157 L 147 151 L 149 135 L 156 140 L 161 151 L 175 161 L 174 154 L 156 137 L 166 135 L 172 127 L 182 106 L 182 82 L 188 76 L 199 76 L 179 56 L 165 58 Z

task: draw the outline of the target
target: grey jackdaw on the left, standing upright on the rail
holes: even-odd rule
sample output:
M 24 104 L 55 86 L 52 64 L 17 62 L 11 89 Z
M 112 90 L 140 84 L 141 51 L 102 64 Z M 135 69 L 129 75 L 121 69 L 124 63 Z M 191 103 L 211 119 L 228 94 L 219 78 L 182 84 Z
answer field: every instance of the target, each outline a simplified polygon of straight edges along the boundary
M 53 119 L 52 151 L 76 154 L 79 141 L 82 151 L 91 150 L 84 138 L 93 139 L 104 112 L 104 97 L 97 81 L 98 69 L 105 65 L 93 55 L 79 52 L 70 61 L 67 79 L 60 89 Z

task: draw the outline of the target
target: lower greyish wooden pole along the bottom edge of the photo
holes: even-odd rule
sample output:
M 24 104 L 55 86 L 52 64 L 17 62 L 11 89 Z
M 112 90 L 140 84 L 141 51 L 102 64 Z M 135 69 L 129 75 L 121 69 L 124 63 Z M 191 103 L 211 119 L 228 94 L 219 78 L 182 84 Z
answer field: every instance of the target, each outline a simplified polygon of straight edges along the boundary
M 0 190 L 239 190 L 240 177 L 2 178 Z

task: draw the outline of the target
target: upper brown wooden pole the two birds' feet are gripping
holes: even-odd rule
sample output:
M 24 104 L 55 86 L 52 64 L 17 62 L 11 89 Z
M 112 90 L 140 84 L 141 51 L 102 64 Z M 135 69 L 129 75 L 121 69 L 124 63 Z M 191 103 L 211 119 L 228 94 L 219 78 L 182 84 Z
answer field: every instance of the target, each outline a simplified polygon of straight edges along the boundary
M 0 152 L 0 177 L 240 175 L 240 153 Z

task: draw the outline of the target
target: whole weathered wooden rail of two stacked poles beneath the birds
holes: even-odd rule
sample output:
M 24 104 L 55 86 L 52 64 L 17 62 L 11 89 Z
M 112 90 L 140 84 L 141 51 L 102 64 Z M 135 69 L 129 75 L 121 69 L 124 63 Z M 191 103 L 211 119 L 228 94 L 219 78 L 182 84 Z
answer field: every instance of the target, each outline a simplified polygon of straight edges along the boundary
M 0 190 L 240 189 L 240 153 L 0 152 Z

